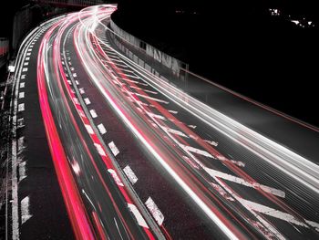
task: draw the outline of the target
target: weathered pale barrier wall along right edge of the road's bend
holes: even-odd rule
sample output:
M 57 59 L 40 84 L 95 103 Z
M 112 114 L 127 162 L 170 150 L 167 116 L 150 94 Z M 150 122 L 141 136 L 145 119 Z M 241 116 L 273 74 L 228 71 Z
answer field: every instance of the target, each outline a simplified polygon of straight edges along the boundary
M 120 27 L 118 27 L 113 20 L 110 21 L 110 28 L 115 32 L 118 36 L 115 40 L 118 47 L 127 54 L 130 58 L 133 58 L 132 53 L 129 52 L 129 49 L 123 46 L 123 43 L 128 44 L 138 48 L 139 52 L 142 52 L 148 57 L 152 57 L 153 59 L 160 62 L 166 68 L 169 68 L 172 73 L 178 77 L 180 77 L 180 69 L 188 69 L 188 65 L 175 57 L 171 57 L 170 55 L 160 51 L 156 47 L 149 45 L 148 43 L 140 40 L 138 37 L 134 37 L 130 35 L 128 32 L 124 31 Z M 126 48 L 126 49 L 124 49 Z M 139 63 L 139 60 L 137 61 Z M 145 65 L 144 65 L 145 67 Z M 149 66 L 148 66 L 149 67 Z

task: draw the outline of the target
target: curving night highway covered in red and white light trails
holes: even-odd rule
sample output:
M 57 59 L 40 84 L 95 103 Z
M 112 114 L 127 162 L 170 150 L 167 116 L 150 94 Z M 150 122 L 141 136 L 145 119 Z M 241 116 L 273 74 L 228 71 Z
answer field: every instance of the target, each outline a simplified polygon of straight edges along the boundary
M 125 57 L 115 10 L 59 16 L 20 48 L 9 238 L 318 239 L 318 164 Z

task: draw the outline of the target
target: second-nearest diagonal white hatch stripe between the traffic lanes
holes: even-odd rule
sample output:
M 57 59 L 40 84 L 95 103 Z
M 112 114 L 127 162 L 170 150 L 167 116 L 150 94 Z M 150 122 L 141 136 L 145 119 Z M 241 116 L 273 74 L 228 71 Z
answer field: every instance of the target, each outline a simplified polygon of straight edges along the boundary
M 216 170 L 213 170 L 211 168 L 207 168 L 205 166 L 203 166 L 203 169 L 209 173 L 211 175 L 211 177 L 219 177 L 221 179 L 224 179 L 224 180 L 227 180 L 227 181 L 230 181 L 232 183 L 238 183 L 238 184 L 242 184 L 244 186 L 247 186 L 247 187 L 252 187 L 254 189 L 262 189 L 263 192 L 265 193 L 271 193 L 273 195 L 276 195 L 276 196 L 279 196 L 279 197 L 285 197 L 285 193 L 282 191 L 282 190 L 279 190 L 279 189 L 275 189 L 273 187 L 269 187 L 269 186 L 265 186 L 263 184 L 260 184 L 260 183 L 256 183 L 256 182 L 247 182 L 246 180 L 240 178 L 240 177 L 236 177 L 236 176 L 233 176 L 231 174 L 228 174 L 228 173 L 224 173 L 224 172 L 220 172 L 220 171 L 216 171 Z

